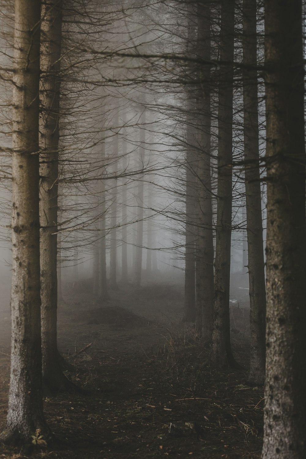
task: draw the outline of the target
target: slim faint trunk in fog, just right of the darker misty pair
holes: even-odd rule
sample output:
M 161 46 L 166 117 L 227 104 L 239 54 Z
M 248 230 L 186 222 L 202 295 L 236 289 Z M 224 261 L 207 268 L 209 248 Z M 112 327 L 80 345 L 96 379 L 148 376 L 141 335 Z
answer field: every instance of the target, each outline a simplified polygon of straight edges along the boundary
M 118 127 L 119 116 L 118 111 L 115 116 L 115 126 Z M 113 137 L 113 155 L 114 165 L 113 171 L 117 173 L 118 167 L 118 134 Z M 110 287 L 112 290 L 117 290 L 117 179 L 113 180 L 113 190 L 111 193 L 111 255 L 110 255 Z

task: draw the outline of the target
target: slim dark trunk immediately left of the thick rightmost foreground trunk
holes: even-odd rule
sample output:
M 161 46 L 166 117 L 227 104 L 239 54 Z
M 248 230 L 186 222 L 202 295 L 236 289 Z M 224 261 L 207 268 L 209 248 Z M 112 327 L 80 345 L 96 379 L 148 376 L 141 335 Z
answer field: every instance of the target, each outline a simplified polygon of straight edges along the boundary
M 245 202 L 250 284 L 251 358 L 249 382 L 265 379 L 266 286 L 263 258 L 259 128 L 257 92 L 256 0 L 243 0 L 243 131 L 245 146 Z M 245 254 L 245 240 L 244 254 Z M 245 257 L 243 257 L 245 259 Z M 244 263 L 246 264 L 246 263 Z

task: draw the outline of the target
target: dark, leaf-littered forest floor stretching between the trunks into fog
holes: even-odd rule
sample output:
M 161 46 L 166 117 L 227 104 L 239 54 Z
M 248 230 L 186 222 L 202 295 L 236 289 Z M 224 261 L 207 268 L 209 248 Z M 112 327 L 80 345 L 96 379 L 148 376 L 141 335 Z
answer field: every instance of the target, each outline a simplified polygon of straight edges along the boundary
M 192 326 L 180 320 L 180 285 L 160 279 L 139 289 L 120 286 L 99 304 L 88 282 L 79 281 L 67 285 L 64 298 L 59 349 L 76 367 L 68 377 L 90 392 L 44 399 L 56 441 L 32 458 L 260 458 L 263 395 L 246 383 L 244 301 L 232 303 L 231 327 L 234 354 L 245 370 L 220 372 L 211 369 Z M 9 386 L 8 314 L 0 323 L 0 430 Z M 27 457 L 0 445 L 0 458 Z

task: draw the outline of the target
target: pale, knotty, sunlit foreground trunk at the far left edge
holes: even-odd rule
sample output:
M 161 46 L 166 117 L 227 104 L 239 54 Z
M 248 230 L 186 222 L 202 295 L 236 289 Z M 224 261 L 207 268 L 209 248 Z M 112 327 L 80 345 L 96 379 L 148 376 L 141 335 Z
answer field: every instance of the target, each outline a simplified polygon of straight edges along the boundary
M 39 271 L 40 1 L 16 0 L 12 100 L 11 378 L 1 441 L 31 442 L 43 414 Z

